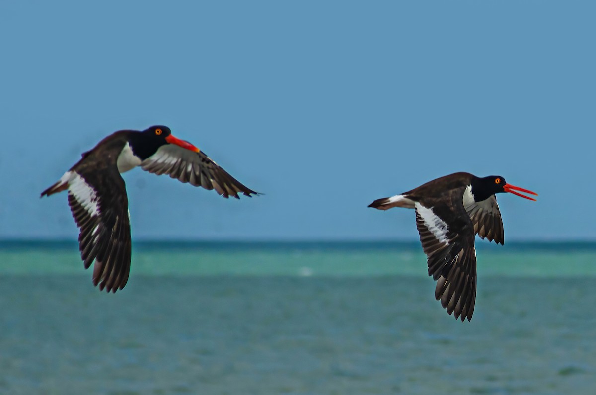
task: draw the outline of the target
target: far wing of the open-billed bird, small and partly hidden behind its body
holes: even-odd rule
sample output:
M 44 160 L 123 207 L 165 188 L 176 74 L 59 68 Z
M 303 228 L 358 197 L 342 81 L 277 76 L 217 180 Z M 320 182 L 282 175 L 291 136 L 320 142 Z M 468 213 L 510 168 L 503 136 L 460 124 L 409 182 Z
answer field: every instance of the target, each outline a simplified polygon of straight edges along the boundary
M 504 243 L 503 220 L 499 205 L 496 204 L 495 195 L 482 200 L 482 202 L 472 202 L 466 205 L 465 211 L 468 212 L 474 224 L 474 233 L 477 233 L 480 238 L 486 237 L 489 242 L 495 240 L 495 243 L 501 245 Z

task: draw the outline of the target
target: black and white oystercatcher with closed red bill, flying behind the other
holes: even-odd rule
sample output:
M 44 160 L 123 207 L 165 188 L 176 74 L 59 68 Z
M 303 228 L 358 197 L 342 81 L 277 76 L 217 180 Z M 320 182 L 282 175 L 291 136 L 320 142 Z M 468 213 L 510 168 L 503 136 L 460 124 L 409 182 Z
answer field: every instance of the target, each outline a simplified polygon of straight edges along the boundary
M 120 174 L 136 166 L 215 189 L 224 198 L 240 199 L 238 193 L 258 195 L 193 144 L 174 137 L 167 126 L 108 135 L 41 193 L 50 196 L 68 190 L 70 209 L 80 228 L 79 249 L 85 269 L 95 261 L 93 283 L 108 292 L 124 288 L 131 269 L 128 197 Z

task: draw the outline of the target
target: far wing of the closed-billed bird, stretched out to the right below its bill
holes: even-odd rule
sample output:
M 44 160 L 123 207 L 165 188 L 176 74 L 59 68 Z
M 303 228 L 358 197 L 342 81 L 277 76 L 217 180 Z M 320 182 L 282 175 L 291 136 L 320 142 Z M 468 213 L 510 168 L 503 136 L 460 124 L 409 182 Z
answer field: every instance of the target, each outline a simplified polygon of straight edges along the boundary
M 170 177 L 195 187 L 215 189 L 224 198 L 234 196 L 240 199 L 238 193 L 257 195 L 257 192 L 241 184 L 202 151 L 194 152 L 175 144 L 160 147 L 154 155 L 141 163 L 141 168 L 157 175 L 169 174 Z

